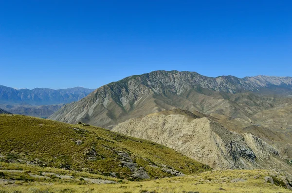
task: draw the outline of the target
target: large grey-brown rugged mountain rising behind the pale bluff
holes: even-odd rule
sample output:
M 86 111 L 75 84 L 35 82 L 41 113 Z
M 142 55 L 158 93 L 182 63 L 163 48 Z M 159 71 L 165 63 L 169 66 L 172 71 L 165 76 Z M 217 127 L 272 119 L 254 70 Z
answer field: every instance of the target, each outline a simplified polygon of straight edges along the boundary
M 180 108 L 230 118 L 241 128 L 257 122 L 256 113 L 289 106 L 291 96 L 291 77 L 211 78 L 196 72 L 153 71 L 104 85 L 49 118 L 110 129 L 129 118 Z

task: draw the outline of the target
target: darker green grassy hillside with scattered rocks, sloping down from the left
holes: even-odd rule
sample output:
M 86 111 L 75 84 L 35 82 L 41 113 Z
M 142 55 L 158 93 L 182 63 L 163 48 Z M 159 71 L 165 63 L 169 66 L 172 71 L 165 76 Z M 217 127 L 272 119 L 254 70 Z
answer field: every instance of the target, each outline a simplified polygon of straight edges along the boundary
M 0 115 L 0 161 L 129 180 L 211 170 L 163 145 L 110 130 L 4 114 Z

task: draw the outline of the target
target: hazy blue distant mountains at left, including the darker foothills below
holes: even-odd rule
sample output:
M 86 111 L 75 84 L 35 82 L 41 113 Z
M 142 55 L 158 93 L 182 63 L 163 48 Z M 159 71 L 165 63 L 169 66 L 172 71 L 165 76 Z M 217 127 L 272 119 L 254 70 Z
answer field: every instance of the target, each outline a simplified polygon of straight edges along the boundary
M 47 118 L 64 104 L 80 100 L 94 89 L 14 89 L 0 85 L 0 108 L 14 114 Z

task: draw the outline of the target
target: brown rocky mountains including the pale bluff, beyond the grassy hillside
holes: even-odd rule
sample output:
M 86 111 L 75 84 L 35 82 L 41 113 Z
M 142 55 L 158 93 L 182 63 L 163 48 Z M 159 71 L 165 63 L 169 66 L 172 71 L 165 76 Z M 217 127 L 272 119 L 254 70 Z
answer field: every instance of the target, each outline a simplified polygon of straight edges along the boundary
M 154 71 L 102 86 L 49 119 L 144 138 L 213 168 L 292 174 L 291 77 Z

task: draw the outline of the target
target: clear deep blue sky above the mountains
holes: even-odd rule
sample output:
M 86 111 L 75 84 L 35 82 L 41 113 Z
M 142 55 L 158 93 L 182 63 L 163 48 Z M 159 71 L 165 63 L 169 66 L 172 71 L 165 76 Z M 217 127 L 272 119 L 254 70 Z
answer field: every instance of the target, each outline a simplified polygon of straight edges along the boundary
M 292 0 L 0 0 L 0 84 L 97 88 L 153 70 L 292 76 Z

